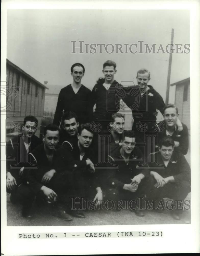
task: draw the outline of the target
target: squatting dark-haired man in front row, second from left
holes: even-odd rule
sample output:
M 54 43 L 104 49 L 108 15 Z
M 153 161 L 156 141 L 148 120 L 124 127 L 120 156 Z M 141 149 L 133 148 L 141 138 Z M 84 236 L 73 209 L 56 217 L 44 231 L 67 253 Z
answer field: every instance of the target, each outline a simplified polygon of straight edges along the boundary
M 29 214 L 34 196 L 53 204 L 53 215 L 66 221 L 72 220 L 63 210 L 63 203 L 69 204 L 70 195 L 74 192 L 73 173 L 65 167 L 65 150 L 58 150 L 60 129 L 56 125 L 47 125 L 44 129 L 44 144 L 36 147 L 30 153 L 30 163 L 37 168 L 30 168 L 26 173 L 28 180 L 18 191 L 18 198 L 22 201 L 22 216 Z M 70 193 L 70 195 L 68 195 Z M 68 209 L 69 210 L 69 209 Z M 76 217 L 84 218 L 78 211 L 70 212 Z

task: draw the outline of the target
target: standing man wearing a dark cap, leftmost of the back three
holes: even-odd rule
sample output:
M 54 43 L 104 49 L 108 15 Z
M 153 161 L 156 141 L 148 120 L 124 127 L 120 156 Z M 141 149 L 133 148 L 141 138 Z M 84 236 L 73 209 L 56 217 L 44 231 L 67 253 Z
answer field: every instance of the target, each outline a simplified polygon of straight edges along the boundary
M 60 125 L 63 111 L 73 111 L 80 123 L 89 122 L 93 113 L 91 106 L 91 91 L 81 84 L 85 68 L 81 63 L 75 63 L 71 66 L 72 84 L 61 89 L 53 124 Z

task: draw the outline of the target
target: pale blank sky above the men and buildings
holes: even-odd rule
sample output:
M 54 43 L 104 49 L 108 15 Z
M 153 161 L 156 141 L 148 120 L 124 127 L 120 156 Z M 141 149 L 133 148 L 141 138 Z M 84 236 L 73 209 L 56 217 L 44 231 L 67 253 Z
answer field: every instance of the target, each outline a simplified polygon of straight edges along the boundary
M 123 45 L 139 44 L 140 40 L 150 48 L 156 44 L 158 49 L 162 44 L 165 49 L 171 41 L 167 32 L 172 28 L 174 44 L 190 44 L 188 10 L 13 9 L 7 12 L 7 58 L 41 83 L 63 87 L 72 82 L 71 65 L 81 62 L 85 66 L 82 84 L 90 89 L 102 76 L 107 59 L 117 63 L 118 82 L 136 84 L 136 71 L 147 68 L 151 72 L 149 84 L 165 101 L 169 54 L 107 54 L 105 50 L 103 54 L 71 54 L 71 41 Z M 174 53 L 170 83 L 188 77 L 190 54 Z M 170 95 L 172 102 L 174 91 Z

